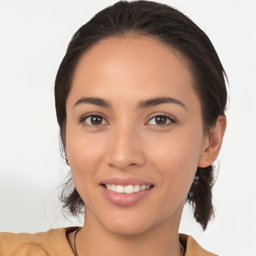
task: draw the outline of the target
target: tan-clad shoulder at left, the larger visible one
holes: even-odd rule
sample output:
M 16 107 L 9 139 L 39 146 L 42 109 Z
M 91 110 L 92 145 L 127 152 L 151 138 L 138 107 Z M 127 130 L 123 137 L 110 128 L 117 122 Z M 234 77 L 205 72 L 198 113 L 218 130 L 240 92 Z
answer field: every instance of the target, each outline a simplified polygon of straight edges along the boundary
M 66 232 L 73 227 L 50 229 L 38 233 L 0 232 L 1 256 L 73 256 Z

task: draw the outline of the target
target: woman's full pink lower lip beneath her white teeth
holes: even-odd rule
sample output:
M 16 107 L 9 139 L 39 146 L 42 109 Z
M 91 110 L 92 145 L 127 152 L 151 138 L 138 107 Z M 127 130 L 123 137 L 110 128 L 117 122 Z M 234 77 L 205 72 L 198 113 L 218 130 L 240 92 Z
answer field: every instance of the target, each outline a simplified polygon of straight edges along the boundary
M 113 204 L 119 206 L 130 206 L 138 201 L 144 199 L 152 190 L 152 187 L 145 190 L 140 190 L 133 193 L 116 193 L 114 191 L 108 190 L 106 187 L 101 186 L 103 194 L 105 197 Z

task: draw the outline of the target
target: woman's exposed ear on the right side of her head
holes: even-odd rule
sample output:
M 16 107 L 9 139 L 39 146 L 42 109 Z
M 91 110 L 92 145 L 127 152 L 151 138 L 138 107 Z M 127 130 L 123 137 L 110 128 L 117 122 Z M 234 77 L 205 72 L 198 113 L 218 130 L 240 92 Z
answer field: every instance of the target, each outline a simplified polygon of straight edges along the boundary
M 198 167 L 207 167 L 217 159 L 225 129 L 226 116 L 221 114 L 217 117 L 216 125 L 210 130 L 209 136 L 205 139 Z

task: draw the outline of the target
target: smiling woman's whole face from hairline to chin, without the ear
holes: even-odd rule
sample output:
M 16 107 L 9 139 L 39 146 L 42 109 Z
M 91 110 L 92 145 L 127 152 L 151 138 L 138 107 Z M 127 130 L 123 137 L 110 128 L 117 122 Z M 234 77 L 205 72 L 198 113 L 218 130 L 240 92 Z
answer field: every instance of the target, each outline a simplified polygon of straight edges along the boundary
M 178 226 L 208 143 L 192 84 L 186 61 L 150 37 L 108 38 L 82 56 L 65 153 L 86 221 L 121 234 Z

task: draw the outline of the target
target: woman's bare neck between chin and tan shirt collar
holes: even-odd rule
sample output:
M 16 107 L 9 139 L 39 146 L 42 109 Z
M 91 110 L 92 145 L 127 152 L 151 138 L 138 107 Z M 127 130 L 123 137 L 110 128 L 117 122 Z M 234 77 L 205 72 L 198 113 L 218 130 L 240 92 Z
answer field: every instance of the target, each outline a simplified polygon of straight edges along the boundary
M 106 230 L 91 214 L 86 214 L 84 225 L 76 235 L 76 256 L 180 256 L 179 218 L 167 219 L 142 233 L 120 234 Z

